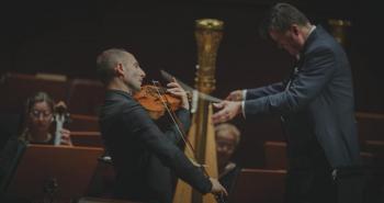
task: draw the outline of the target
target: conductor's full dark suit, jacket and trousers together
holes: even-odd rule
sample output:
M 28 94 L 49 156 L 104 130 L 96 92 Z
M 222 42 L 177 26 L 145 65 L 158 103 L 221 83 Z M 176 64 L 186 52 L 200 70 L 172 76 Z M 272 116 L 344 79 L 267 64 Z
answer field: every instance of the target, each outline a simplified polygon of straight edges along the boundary
M 355 188 L 348 189 L 341 183 L 346 178 L 335 181 L 332 176 L 351 168 L 361 171 L 361 158 L 350 65 L 323 27 L 309 34 L 287 80 L 247 90 L 246 117 L 268 113 L 280 114 L 286 132 L 287 202 L 335 202 L 343 195 L 338 198 L 342 202 L 346 191 L 361 201 L 359 181 L 350 181 Z

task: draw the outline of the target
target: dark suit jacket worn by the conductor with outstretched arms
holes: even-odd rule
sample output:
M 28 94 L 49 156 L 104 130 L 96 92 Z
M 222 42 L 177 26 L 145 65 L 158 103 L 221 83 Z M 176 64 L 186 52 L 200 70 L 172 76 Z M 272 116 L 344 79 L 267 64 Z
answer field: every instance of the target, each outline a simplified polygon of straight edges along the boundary
M 317 26 L 289 80 L 247 90 L 245 114 L 283 115 L 291 168 L 313 167 L 320 150 L 332 168 L 360 166 L 353 100 L 347 55 Z

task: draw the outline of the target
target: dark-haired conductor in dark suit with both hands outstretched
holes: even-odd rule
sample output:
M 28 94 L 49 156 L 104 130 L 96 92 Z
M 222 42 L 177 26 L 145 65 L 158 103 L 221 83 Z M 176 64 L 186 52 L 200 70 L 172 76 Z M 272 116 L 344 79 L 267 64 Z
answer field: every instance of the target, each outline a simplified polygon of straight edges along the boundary
M 233 91 L 215 123 L 244 114 L 280 114 L 286 132 L 286 201 L 361 202 L 361 160 L 350 65 L 342 47 L 296 8 L 278 3 L 261 30 L 295 57 L 292 75 L 262 88 Z

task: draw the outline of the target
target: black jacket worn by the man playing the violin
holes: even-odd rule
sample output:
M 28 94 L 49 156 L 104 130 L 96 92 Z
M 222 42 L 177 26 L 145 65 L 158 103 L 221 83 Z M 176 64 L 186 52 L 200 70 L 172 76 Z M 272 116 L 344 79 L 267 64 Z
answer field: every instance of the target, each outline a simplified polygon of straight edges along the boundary
M 169 169 L 200 192 L 211 191 L 210 180 L 176 146 L 179 136 L 173 131 L 166 136 L 128 93 L 106 92 L 100 126 L 116 170 L 117 198 L 171 202 Z

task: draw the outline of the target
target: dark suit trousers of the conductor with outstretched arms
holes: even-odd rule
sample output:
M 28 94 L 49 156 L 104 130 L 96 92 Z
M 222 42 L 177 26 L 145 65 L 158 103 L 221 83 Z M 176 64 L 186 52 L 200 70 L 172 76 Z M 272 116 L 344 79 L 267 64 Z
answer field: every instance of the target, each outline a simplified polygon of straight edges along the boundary
M 338 176 L 329 170 L 294 170 L 286 177 L 286 203 L 362 203 L 362 174 Z

